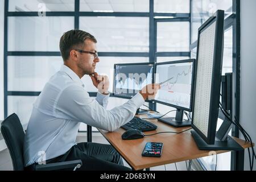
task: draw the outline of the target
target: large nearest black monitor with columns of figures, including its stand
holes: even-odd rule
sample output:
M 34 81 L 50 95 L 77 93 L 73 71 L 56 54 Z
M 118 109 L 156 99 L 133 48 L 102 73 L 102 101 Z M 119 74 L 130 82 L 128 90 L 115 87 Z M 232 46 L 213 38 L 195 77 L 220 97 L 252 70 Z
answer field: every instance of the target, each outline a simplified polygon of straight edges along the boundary
M 193 138 L 201 150 L 236 150 L 232 139 L 217 141 L 216 127 L 220 102 L 224 11 L 218 10 L 198 30 L 195 84 L 193 92 Z M 234 144 L 235 143 L 235 144 Z

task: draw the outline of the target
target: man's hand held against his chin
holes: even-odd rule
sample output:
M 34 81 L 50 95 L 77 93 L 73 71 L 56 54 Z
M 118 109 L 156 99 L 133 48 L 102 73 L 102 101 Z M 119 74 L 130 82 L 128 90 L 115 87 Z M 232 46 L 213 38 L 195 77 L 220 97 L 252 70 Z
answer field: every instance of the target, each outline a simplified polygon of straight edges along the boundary
M 108 76 L 98 75 L 98 73 L 93 73 L 89 75 L 92 79 L 93 85 L 98 89 L 101 94 L 109 94 L 109 78 Z

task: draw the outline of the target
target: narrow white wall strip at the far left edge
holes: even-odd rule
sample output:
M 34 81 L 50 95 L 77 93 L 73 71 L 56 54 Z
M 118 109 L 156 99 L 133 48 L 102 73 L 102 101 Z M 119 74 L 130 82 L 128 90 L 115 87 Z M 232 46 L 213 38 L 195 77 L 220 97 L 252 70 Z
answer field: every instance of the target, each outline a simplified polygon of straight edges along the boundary
M 5 1 L 0 1 L 0 120 L 3 119 L 3 20 Z

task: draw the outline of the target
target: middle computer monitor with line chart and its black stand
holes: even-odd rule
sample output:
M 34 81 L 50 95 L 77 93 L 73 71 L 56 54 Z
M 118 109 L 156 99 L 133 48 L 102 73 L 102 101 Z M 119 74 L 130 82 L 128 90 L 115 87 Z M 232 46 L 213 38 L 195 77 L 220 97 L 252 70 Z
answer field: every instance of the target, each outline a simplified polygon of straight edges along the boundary
M 192 111 L 192 91 L 195 59 L 170 61 L 155 64 L 155 83 L 162 83 L 155 102 L 175 107 L 175 118 L 158 120 L 175 127 L 191 126 L 183 119 L 184 110 Z

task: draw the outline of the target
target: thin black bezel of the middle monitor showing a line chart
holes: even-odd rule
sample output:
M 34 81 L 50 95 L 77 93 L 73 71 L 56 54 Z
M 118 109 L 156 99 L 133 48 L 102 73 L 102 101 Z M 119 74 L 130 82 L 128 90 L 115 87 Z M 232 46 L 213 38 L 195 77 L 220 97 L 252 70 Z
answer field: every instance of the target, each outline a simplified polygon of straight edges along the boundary
M 190 95 L 190 105 L 189 108 L 187 107 L 181 107 L 181 106 L 177 106 L 174 104 L 169 104 L 167 102 L 163 102 L 163 101 L 158 101 L 158 100 L 154 100 L 156 103 L 158 104 L 163 104 L 163 105 L 167 105 L 167 106 L 171 106 L 171 107 L 175 107 L 176 109 L 180 109 L 180 110 L 185 110 L 185 111 L 192 111 L 192 96 L 193 96 L 193 84 L 194 84 L 194 76 L 195 76 L 195 59 L 185 59 L 185 60 L 176 60 L 176 61 L 168 61 L 168 62 L 163 62 L 163 63 L 156 63 L 155 67 L 154 67 L 154 73 L 156 74 L 156 67 L 158 65 L 164 65 L 164 64 L 177 64 L 177 63 L 193 63 L 192 64 L 192 80 L 191 80 L 191 95 Z M 155 82 L 155 76 L 154 75 L 154 82 Z

